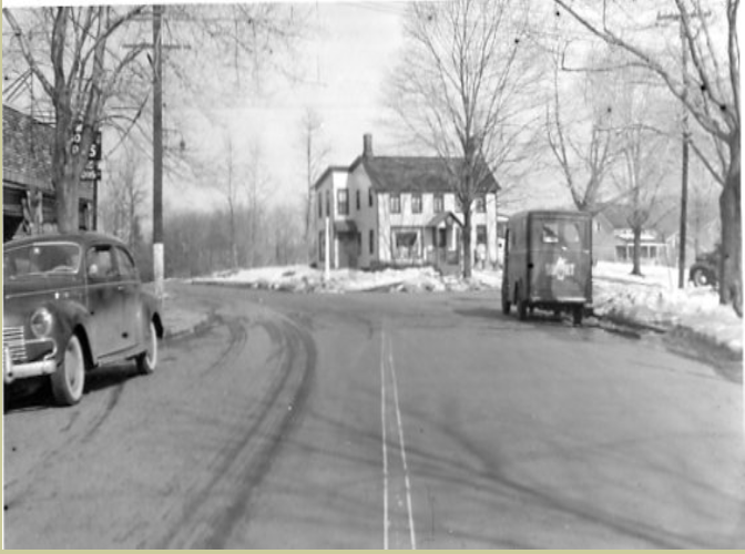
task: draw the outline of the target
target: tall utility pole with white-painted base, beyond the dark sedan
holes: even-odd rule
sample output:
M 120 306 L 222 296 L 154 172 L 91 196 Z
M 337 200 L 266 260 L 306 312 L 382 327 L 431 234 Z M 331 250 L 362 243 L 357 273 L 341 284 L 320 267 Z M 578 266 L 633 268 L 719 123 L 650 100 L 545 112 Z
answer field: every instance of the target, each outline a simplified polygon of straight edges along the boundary
M 153 271 L 163 300 L 163 7 L 153 6 Z

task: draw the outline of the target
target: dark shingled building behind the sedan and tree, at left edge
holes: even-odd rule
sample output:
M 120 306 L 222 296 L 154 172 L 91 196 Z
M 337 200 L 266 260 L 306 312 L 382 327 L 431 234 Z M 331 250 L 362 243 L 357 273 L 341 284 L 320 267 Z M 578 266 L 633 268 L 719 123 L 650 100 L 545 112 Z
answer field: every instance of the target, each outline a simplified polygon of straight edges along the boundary
M 2 223 L 3 242 L 29 230 L 35 220 L 55 228 L 52 186 L 54 127 L 18 110 L 2 106 Z M 92 228 L 92 182 L 81 182 L 80 224 Z

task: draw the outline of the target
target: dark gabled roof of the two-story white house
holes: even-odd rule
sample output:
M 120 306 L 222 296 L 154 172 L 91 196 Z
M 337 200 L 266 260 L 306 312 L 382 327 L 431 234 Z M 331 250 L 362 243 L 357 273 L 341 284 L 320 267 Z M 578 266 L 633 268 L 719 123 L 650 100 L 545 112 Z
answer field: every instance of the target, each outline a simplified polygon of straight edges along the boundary
M 360 164 L 380 192 L 446 193 L 452 192 L 452 173 L 462 158 L 408 156 L 359 156 L 349 167 L 354 172 Z M 499 191 L 499 184 L 491 172 L 484 179 L 488 192 Z

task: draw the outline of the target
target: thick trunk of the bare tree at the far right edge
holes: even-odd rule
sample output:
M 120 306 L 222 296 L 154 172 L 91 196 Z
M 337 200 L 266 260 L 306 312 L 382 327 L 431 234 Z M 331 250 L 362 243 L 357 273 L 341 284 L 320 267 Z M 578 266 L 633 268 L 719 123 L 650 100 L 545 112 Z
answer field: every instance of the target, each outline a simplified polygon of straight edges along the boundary
M 722 215 L 722 259 L 720 260 L 720 302 L 731 304 L 743 317 L 742 207 L 739 183 L 739 135 L 729 144 L 729 171 L 720 195 Z

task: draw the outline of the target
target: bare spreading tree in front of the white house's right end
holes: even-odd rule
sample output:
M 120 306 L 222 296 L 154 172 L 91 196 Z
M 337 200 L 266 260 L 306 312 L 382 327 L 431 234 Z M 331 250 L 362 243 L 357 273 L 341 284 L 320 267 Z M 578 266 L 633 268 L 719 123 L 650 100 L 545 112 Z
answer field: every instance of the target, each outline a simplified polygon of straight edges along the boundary
M 463 275 L 471 275 L 471 208 L 523 154 L 533 121 L 525 2 L 415 3 L 408 49 L 390 82 L 390 104 L 414 137 L 446 162 L 465 216 Z

